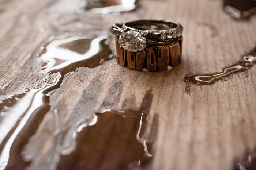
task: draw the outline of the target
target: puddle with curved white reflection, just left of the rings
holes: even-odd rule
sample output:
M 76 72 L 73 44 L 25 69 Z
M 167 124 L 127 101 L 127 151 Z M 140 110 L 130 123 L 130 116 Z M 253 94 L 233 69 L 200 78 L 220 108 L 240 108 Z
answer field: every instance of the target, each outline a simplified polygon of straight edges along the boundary
M 44 47 L 39 59 L 44 62 L 41 67 L 45 72 L 65 75 L 78 67 L 95 68 L 101 61 L 112 59 L 112 51 L 105 44 L 107 35 L 95 37 L 75 36 L 67 39 L 54 40 Z

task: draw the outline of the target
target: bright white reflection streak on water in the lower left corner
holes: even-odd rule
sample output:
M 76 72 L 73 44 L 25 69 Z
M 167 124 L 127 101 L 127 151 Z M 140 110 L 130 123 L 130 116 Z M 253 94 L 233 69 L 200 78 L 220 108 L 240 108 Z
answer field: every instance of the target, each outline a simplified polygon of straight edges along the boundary
M 16 136 L 18 136 L 20 130 L 25 126 L 27 121 L 29 120 L 30 116 L 33 112 L 43 105 L 42 98 L 44 96 L 43 90 L 47 90 L 52 86 L 56 85 L 59 81 L 60 74 L 55 78 L 52 84 L 46 84 L 39 89 L 31 89 L 29 92 L 26 93 L 25 97 L 20 99 L 17 104 L 15 104 L 8 111 L 5 112 L 6 117 L 4 117 L 4 124 L 0 125 L 0 133 L 3 132 L 3 137 L 11 130 L 14 124 L 19 120 L 19 124 L 16 127 L 15 131 L 12 133 L 8 141 L 6 142 L 1 155 L 0 155 L 0 170 L 4 170 L 7 166 L 9 160 L 9 152 L 14 142 Z M 15 113 L 15 116 L 13 115 Z M 23 116 L 22 116 L 23 115 Z M 17 122 L 18 123 L 18 122 Z M 5 134 L 5 135 L 4 135 Z M 3 141 L 3 139 L 2 139 Z M 2 142 L 1 141 L 1 142 Z

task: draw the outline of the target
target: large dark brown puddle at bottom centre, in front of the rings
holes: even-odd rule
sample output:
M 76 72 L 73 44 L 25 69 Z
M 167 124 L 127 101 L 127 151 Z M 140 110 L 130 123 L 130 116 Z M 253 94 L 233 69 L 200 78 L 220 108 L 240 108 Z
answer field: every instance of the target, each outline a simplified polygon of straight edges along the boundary
M 146 127 L 147 113 L 142 111 L 96 113 L 90 124 L 80 125 L 75 150 L 61 156 L 57 169 L 147 169 L 155 137 L 144 138 Z

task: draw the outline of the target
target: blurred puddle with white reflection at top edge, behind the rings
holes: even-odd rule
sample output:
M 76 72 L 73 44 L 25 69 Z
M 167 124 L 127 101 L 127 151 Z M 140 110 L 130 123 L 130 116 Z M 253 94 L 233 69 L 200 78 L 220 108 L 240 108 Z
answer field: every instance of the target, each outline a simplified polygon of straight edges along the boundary
M 85 9 L 94 13 L 126 12 L 138 6 L 138 0 L 89 0 Z

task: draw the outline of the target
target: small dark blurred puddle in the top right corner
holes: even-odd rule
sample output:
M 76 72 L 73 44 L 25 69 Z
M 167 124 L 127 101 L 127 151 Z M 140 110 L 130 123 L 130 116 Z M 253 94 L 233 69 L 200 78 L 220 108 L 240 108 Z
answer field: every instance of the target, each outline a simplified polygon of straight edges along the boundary
M 256 13 L 256 1 L 224 0 L 224 10 L 234 19 L 247 19 Z

